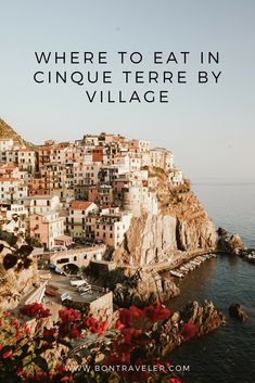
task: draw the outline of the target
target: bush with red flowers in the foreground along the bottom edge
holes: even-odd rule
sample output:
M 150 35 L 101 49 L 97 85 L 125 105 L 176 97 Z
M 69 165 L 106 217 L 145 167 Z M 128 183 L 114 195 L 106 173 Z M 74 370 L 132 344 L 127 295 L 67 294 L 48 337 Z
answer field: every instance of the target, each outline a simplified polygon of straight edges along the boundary
M 26 305 L 18 316 L 5 312 L 0 323 L 0 379 L 181 383 L 169 372 L 170 363 L 162 362 L 158 340 L 167 321 L 170 311 L 160 302 L 143 309 L 119 309 L 114 328 L 74 308 L 61 309 L 52 322 L 41 304 Z M 191 321 L 180 330 L 183 341 L 195 334 Z M 113 371 L 113 366 L 118 369 Z M 150 371 L 145 366 L 158 368 Z

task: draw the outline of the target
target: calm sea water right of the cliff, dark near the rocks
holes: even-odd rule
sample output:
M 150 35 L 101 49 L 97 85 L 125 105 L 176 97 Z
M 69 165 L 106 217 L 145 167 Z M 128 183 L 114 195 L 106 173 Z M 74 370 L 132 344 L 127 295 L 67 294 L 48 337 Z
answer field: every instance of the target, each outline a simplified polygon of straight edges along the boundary
M 239 233 L 255 247 L 255 181 L 196 181 L 192 186 L 216 227 Z M 178 281 L 181 294 L 170 302 L 178 310 L 189 301 L 212 299 L 227 317 L 226 325 L 176 348 L 169 361 L 189 366 L 183 383 L 255 382 L 255 264 L 238 256 L 218 255 Z M 232 303 L 243 305 L 248 319 L 232 318 Z

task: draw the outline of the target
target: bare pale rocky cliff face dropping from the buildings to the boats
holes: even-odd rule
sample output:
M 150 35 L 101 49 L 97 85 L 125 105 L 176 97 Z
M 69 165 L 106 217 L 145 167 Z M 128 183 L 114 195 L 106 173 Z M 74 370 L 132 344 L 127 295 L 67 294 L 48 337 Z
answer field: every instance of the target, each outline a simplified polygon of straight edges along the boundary
M 113 254 L 114 260 L 142 266 L 174 260 L 180 252 L 184 255 L 216 247 L 214 224 L 195 194 L 188 186 L 171 188 L 163 170 L 157 170 L 157 215 L 132 218 L 124 243 Z

